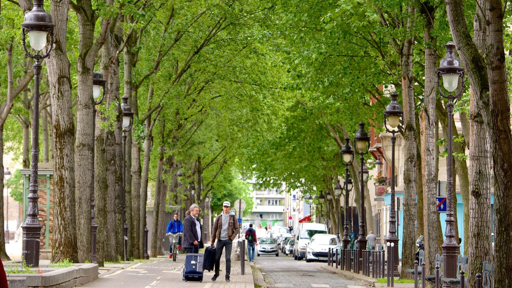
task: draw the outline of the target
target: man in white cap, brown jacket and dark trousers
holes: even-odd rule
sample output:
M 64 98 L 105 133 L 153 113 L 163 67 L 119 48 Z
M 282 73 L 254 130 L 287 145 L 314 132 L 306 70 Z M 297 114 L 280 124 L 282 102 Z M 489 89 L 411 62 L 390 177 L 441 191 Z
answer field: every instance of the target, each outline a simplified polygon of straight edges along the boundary
M 222 256 L 222 249 L 226 253 L 226 282 L 229 282 L 229 275 L 231 274 L 231 248 L 233 240 L 240 232 L 237 219 L 234 215 L 229 213 L 231 203 L 224 201 L 222 204 L 222 213 L 215 218 L 214 231 L 211 233 L 211 245 L 215 245 L 217 239 L 217 246 L 215 246 L 215 274 L 211 277 L 211 281 L 217 280 L 220 272 L 220 259 Z

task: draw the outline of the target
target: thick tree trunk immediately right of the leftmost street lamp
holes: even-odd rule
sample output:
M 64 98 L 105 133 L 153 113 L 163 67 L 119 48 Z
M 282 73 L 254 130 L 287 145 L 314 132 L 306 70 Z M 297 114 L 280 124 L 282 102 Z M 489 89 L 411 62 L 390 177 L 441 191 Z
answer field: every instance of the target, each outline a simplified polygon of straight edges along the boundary
M 51 2 L 55 43 L 47 59 L 54 147 L 54 225 L 52 261 L 78 260 L 75 211 L 75 127 L 70 63 L 66 50 L 69 1 Z M 89 214 L 89 213 L 88 213 Z M 83 236 L 83 235 L 80 235 Z

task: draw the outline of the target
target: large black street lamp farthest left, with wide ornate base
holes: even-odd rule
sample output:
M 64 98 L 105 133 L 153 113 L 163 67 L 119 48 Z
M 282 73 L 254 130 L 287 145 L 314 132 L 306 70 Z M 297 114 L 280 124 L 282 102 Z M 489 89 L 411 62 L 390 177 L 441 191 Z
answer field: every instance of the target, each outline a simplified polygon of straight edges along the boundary
M 34 70 L 34 96 L 32 100 L 32 151 L 31 151 L 31 170 L 30 170 L 30 183 L 27 219 L 22 225 L 23 229 L 23 252 L 22 257 L 27 263 L 27 266 L 39 266 L 39 238 L 41 236 L 42 225 L 39 223 L 39 208 L 37 201 L 39 190 L 37 183 L 38 176 L 38 163 L 39 163 L 39 84 L 41 76 L 41 63 L 40 60 L 50 56 L 53 46 L 53 27 L 52 16 L 43 8 L 43 0 L 34 0 L 34 7 L 32 10 L 25 14 L 24 22 L 22 23 L 22 44 L 25 50 L 25 57 L 30 57 L 35 60 L 32 69 Z M 35 53 L 31 54 L 27 50 L 25 36 L 29 34 L 29 44 Z M 50 44 L 46 53 L 39 54 L 43 48 L 47 47 L 47 34 L 50 35 Z

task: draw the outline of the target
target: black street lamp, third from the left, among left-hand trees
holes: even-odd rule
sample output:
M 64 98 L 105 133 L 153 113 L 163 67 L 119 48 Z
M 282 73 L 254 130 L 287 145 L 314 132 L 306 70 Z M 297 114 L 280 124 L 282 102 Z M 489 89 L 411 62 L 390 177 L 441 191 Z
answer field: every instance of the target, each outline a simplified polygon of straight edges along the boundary
M 121 97 L 121 111 L 123 113 L 123 239 L 124 239 L 124 260 L 130 261 L 128 258 L 128 225 L 126 224 L 126 133 L 132 130 L 133 112 L 128 105 L 128 96 Z

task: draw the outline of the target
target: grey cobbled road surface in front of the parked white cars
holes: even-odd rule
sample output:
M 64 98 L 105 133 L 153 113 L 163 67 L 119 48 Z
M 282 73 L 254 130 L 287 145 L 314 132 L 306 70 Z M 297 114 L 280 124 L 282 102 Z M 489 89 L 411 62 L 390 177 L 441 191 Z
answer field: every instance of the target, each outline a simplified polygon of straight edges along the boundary
M 261 255 L 254 257 L 255 263 L 261 268 L 267 287 L 293 288 L 367 288 L 360 282 L 348 280 L 342 275 L 322 269 L 326 262 L 310 262 L 293 260 L 291 256 L 280 254 L 279 257 Z

